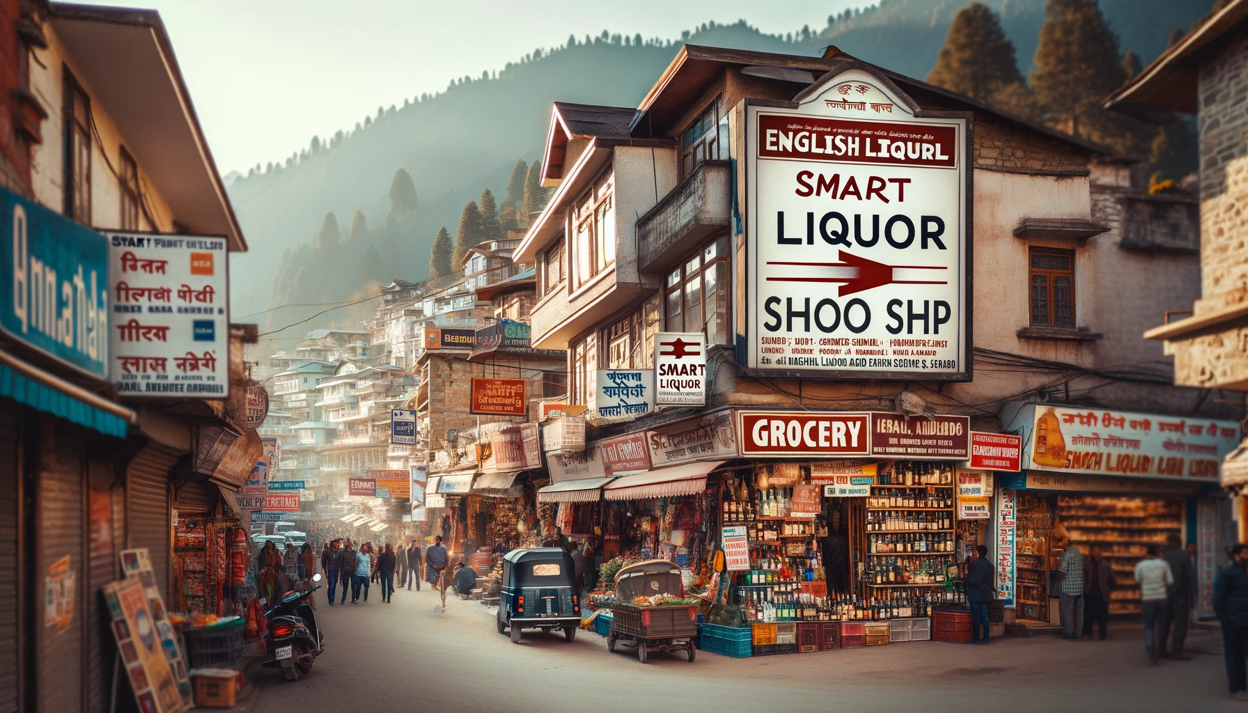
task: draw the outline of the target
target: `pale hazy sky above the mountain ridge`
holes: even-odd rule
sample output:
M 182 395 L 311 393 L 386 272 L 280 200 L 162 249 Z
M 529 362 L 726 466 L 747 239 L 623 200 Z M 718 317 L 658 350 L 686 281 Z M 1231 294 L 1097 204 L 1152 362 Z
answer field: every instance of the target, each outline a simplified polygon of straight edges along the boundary
M 378 106 L 603 30 L 680 37 L 744 17 L 825 26 L 862 0 L 91 0 L 160 10 L 222 174 L 283 160 Z

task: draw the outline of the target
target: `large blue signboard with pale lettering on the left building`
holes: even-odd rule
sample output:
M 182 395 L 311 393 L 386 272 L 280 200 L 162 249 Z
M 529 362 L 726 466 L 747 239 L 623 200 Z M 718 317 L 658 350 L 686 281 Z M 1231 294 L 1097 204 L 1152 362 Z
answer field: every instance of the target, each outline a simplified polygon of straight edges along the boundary
M 0 328 L 84 372 L 109 375 L 109 242 L 0 190 Z

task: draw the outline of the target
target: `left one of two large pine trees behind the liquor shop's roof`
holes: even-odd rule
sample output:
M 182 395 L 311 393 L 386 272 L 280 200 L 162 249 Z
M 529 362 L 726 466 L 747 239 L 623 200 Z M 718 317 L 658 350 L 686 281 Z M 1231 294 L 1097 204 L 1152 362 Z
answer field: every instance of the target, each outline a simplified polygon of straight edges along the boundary
M 1000 104 L 1007 90 L 1025 84 L 1013 44 L 982 2 L 972 2 L 953 16 L 927 81 L 990 104 Z

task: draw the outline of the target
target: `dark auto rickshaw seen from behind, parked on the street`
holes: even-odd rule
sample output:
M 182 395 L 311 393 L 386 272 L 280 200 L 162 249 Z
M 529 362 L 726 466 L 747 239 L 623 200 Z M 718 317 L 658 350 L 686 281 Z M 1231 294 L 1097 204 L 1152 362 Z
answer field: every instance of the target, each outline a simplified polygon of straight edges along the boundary
M 558 547 L 538 547 L 503 556 L 498 633 L 510 629 L 512 643 L 520 643 L 523 629 L 547 633 L 563 629 L 570 642 L 577 638 L 579 626 L 580 592 L 570 553 Z

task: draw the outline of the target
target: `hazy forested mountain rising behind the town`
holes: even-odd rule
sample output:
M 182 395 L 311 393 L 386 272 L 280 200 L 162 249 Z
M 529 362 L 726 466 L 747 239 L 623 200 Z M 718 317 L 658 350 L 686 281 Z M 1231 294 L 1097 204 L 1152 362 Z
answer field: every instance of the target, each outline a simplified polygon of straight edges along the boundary
M 708 22 L 680 39 L 603 31 L 534 50 L 497 70 L 483 67 L 401 107 L 377 107 L 351 130 L 312 137 L 298 155 L 232 176 L 230 197 L 251 245 L 232 262 L 233 315 L 364 297 L 393 278 L 427 277 L 434 237 L 446 226 L 456 238 L 466 202 L 480 201 L 485 189 L 493 196 L 515 194 L 508 184 L 517 159 L 538 157 L 552 101 L 633 106 L 685 41 L 801 55 L 835 44 L 924 77 L 936 65 L 950 22 L 968 1 L 881 0 L 866 10 L 812 17 L 816 27 L 784 36 L 763 34 L 744 20 Z M 1020 72 L 1028 75 L 1045 0 L 982 1 L 1013 42 Z M 1211 4 L 1099 1 L 1121 50 L 1134 50 L 1144 64 L 1164 49 L 1174 27 L 1186 30 Z M 811 5 L 812 14 L 816 7 Z M 513 204 L 520 201 L 515 197 Z M 523 221 L 523 206 L 512 210 Z M 343 323 L 368 306 L 331 312 L 307 326 Z M 282 326 L 321 308 L 283 308 L 251 318 Z M 288 333 L 302 333 L 302 326 Z

